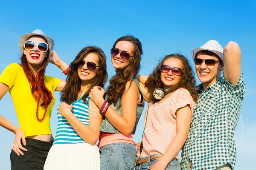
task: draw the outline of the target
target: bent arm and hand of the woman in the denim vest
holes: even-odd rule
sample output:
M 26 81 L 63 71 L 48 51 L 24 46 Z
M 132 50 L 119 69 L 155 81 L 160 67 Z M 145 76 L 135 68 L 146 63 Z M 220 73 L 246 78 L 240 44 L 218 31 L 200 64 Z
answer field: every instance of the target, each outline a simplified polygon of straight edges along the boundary
M 130 83 L 131 87 L 129 88 Z M 100 93 L 101 95 L 99 95 Z M 104 102 L 103 94 L 102 88 L 99 90 L 99 87 L 94 87 L 91 90 L 90 99 L 96 103 L 98 108 L 101 108 Z M 128 81 L 126 83 L 125 93 L 122 95 L 121 99 L 122 116 L 111 107 L 108 108 L 108 111 L 105 114 L 111 125 L 125 136 L 130 135 L 134 129 L 137 115 L 137 100 L 139 99 L 139 96 L 140 91 L 136 83 L 134 81 Z

